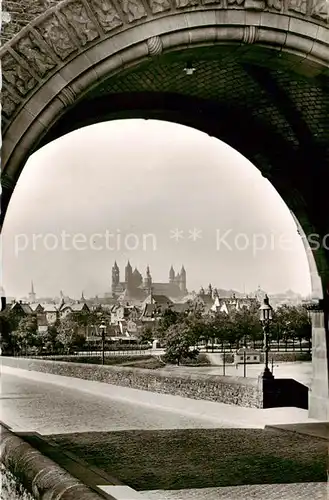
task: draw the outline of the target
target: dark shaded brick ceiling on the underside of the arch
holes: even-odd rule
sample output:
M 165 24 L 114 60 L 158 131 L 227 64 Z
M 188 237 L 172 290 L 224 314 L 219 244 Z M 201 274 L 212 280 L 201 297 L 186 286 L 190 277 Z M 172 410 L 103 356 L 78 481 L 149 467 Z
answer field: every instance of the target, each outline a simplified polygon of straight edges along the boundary
M 195 69 L 192 75 L 187 75 L 185 71 L 189 62 Z M 96 121 L 136 116 L 172 119 L 201 128 L 199 116 L 203 103 L 205 107 L 202 113 L 208 122 L 207 127 L 210 115 L 206 109 L 207 102 L 210 102 L 210 107 L 218 105 L 217 121 L 224 120 L 224 129 L 228 128 L 231 116 L 236 121 L 230 131 L 223 130 L 223 127 L 217 130 L 205 128 L 204 131 L 235 147 L 275 184 L 275 177 L 278 177 L 275 168 L 287 169 L 282 162 L 289 148 L 298 153 L 303 144 L 314 138 L 317 144 L 327 150 L 329 157 L 329 94 L 325 92 L 324 85 L 322 81 L 318 83 L 283 70 L 243 62 L 229 48 L 225 51 L 221 47 L 218 53 L 213 47 L 194 49 L 185 54 L 171 53 L 145 62 L 137 68 L 128 69 L 94 87 L 58 123 L 53 131 L 54 135 L 47 137 L 46 142 Z M 161 94 L 162 97 L 156 99 L 156 94 Z M 132 96 L 131 99 L 127 97 L 129 95 Z M 177 117 L 177 114 L 170 113 L 171 104 L 166 96 L 173 96 L 172 100 L 177 96 L 177 100 L 181 102 L 183 97 L 200 101 L 197 104 L 184 101 L 186 106 L 182 113 L 191 115 L 190 119 L 184 121 L 184 116 Z M 194 109 L 195 105 L 197 109 Z M 160 107 L 166 109 L 159 110 Z M 238 113 L 233 113 L 234 110 L 238 110 Z M 248 131 L 251 120 L 258 124 L 257 132 L 255 129 L 253 135 L 249 135 Z M 271 144 L 259 143 L 259 134 L 265 128 L 267 135 L 271 134 L 269 142 L 272 141 L 273 150 L 280 141 L 282 144 L 276 167 L 271 165 Z M 276 143 L 274 135 L 278 139 Z M 283 149 L 283 146 L 287 149 Z M 286 161 L 289 161 L 288 158 Z M 280 174 L 285 183 L 287 177 L 291 177 L 291 168 L 289 175 L 283 175 L 283 172 Z M 280 188 L 278 184 L 276 187 Z

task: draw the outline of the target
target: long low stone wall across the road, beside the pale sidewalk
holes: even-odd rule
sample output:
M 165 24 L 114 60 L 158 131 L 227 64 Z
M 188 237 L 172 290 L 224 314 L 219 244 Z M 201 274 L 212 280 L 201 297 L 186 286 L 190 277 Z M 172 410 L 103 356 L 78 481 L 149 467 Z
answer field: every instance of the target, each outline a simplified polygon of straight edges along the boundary
M 238 406 L 262 408 L 257 379 L 206 374 L 175 374 L 125 366 L 102 366 L 64 361 L 3 357 L 6 366 Z

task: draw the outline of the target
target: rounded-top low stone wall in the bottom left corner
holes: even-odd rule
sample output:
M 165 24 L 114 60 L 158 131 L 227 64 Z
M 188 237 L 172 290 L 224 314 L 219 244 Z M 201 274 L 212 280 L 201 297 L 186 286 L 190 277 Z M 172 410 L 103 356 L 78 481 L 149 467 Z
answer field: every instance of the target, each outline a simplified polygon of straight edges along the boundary
M 3 500 L 103 498 L 3 425 L 0 425 L 0 436 Z

